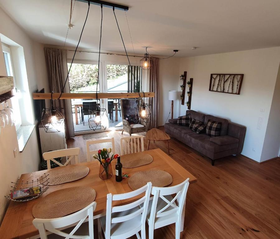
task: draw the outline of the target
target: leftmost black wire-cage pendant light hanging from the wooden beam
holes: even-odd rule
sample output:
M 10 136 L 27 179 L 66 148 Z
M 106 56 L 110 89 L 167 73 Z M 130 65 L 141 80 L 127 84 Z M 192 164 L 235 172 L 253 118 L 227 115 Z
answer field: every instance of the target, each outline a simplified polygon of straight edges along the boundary
M 53 93 L 51 93 L 51 96 Z M 64 115 L 62 114 L 62 110 L 63 108 L 53 106 L 53 99 L 51 100 L 51 108 L 43 109 L 41 122 L 46 133 L 64 130 Z

